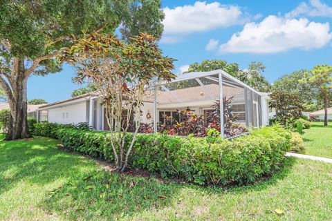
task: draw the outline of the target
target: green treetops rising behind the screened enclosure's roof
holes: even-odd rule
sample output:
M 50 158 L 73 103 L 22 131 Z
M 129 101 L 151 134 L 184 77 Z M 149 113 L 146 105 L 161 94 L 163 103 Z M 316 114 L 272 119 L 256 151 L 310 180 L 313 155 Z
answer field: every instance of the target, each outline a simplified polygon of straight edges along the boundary
M 189 69 L 185 73 L 211 71 L 217 69 L 225 71 L 258 91 L 270 91 L 270 83 L 262 75 L 262 73 L 264 73 L 265 66 L 261 62 L 251 62 L 248 70 L 241 70 L 239 68 L 239 64 L 237 63 L 228 64 L 227 61 L 221 59 L 204 60 L 201 63 L 195 62 L 190 64 Z

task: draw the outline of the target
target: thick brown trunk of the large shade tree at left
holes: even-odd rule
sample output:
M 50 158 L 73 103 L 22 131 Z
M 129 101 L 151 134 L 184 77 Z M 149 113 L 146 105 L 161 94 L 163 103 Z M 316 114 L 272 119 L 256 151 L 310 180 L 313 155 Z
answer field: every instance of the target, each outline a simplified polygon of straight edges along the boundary
M 12 99 L 10 105 L 10 125 L 6 140 L 30 138 L 27 120 L 26 86 L 28 78 L 24 75 L 24 61 L 20 60 L 16 78 L 12 79 Z

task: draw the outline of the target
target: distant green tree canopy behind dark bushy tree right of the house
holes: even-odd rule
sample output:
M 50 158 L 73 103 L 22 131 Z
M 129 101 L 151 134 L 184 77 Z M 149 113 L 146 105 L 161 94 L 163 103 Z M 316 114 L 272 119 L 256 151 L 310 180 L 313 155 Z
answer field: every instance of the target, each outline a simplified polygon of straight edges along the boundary
M 273 82 L 272 90 L 284 90 L 288 93 L 295 94 L 302 101 L 304 111 L 312 112 L 323 108 L 320 102 L 317 102 L 317 88 L 301 81 L 307 70 L 295 71 L 289 75 L 284 75 Z

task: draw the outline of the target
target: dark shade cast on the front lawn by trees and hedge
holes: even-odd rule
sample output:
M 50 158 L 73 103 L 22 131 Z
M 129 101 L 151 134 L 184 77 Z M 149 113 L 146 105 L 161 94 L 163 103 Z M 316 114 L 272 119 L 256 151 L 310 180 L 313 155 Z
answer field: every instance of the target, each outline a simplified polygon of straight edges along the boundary
M 262 191 L 283 180 L 295 163 L 295 158 L 287 158 L 278 173 L 257 184 L 232 188 L 202 187 L 155 177 L 110 173 L 86 157 L 58 150 L 56 145 L 57 141 L 40 137 L 0 142 L 0 195 L 15 188 L 21 180 L 49 185 L 54 180 L 64 179 L 66 182 L 62 186 L 46 191 L 39 206 L 68 220 L 117 220 L 169 206 L 179 198 L 183 188 L 206 194 Z M 11 175 L 3 175 L 6 171 Z

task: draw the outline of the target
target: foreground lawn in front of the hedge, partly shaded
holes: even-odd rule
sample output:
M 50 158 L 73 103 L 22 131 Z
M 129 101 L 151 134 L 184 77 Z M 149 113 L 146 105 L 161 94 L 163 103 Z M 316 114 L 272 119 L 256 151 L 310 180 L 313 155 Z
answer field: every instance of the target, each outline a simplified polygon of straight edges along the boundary
M 311 160 L 221 189 L 109 173 L 48 138 L 0 142 L 0 220 L 332 220 L 331 186 L 332 164 Z

